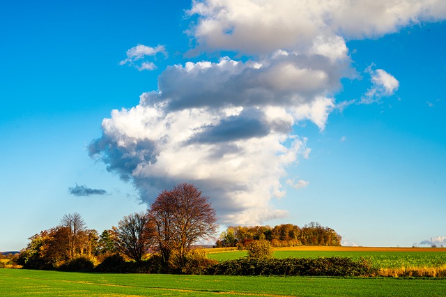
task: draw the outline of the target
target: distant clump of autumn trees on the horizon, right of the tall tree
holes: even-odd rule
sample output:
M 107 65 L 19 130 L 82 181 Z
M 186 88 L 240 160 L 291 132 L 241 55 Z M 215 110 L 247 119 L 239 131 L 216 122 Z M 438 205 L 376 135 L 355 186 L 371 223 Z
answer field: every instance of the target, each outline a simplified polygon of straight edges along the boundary
M 289 247 L 300 245 L 341 245 L 341 236 L 329 227 L 317 222 L 298 227 L 295 224 L 279 224 L 270 226 L 231 226 L 223 231 L 215 243 L 218 248 L 244 248 L 252 241 L 266 240 L 273 247 Z

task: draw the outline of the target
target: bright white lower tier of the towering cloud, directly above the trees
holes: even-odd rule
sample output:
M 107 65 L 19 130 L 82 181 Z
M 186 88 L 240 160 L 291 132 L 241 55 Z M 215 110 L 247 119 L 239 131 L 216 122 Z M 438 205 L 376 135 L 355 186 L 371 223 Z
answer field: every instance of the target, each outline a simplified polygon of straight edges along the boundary
M 89 146 L 110 171 L 133 181 L 143 201 L 187 181 L 211 197 L 222 222 L 251 224 L 286 214 L 269 201 L 282 193 L 284 167 L 307 150 L 305 139 L 282 132 L 293 124 L 284 109 L 169 111 L 164 103 L 148 104 L 150 95 L 137 107 L 114 111 L 102 123 L 102 138 Z

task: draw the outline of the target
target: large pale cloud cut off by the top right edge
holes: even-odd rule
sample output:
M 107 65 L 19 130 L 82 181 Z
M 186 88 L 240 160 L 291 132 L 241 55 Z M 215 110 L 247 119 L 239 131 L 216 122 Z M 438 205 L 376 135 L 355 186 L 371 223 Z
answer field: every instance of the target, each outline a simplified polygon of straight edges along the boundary
M 343 59 L 344 39 L 376 38 L 401 27 L 444 20 L 443 0 L 194 1 L 191 31 L 200 50 L 268 54 L 277 49 Z

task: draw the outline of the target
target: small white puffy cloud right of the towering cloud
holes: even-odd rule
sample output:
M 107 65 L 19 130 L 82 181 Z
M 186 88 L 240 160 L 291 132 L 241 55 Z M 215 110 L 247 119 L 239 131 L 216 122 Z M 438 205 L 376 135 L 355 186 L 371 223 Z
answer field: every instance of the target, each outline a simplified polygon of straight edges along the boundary
M 384 96 L 392 96 L 399 88 L 398 80 L 383 69 L 368 70 L 368 72 L 371 75 L 372 86 L 362 97 L 362 103 L 379 102 Z

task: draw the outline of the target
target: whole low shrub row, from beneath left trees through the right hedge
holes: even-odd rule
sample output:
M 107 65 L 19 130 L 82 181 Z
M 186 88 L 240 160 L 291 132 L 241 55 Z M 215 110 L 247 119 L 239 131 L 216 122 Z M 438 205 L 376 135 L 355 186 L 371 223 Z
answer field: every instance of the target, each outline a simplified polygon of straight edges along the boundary
M 190 254 L 185 263 L 165 271 L 160 256 L 144 261 L 125 261 L 119 255 L 106 257 L 98 266 L 88 258 L 77 258 L 59 267 L 62 271 L 93 271 L 100 273 L 178 273 L 195 275 L 290 275 L 290 276 L 369 276 L 376 275 L 367 259 L 354 261 L 344 257 L 259 259 L 244 257 L 222 261 Z

